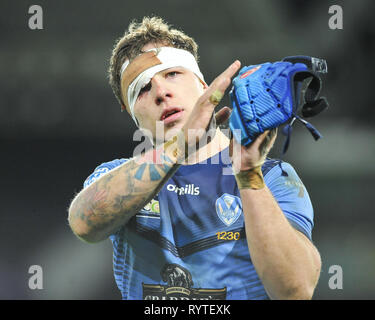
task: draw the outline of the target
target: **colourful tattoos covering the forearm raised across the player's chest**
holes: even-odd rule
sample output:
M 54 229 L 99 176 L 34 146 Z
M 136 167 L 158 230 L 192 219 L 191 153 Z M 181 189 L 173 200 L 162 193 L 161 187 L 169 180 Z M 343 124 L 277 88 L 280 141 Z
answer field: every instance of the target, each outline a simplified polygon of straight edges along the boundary
M 74 218 L 82 220 L 93 232 L 126 221 L 124 213 L 131 216 L 138 212 L 173 171 L 174 162 L 165 153 L 158 156 L 163 160 L 160 164 L 139 165 L 131 160 L 87 187 L 75 200 Z

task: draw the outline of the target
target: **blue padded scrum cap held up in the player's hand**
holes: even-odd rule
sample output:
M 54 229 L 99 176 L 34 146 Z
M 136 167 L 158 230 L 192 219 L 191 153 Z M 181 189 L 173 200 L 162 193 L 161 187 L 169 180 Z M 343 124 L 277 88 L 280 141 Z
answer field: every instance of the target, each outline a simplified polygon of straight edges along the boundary
M 229 127 L 242 145 L 259 134 L 279 127 L 296 113 L 299 88 L 294 75 L 310 73 L 303 63 L 275 62 L 244 67 L 233 80 Z M 235 130 L 237 129 L 237 130 Z

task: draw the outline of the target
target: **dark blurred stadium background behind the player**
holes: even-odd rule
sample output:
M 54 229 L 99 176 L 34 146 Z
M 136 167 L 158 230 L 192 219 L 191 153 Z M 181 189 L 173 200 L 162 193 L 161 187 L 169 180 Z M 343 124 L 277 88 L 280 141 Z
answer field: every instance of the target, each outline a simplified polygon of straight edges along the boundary
M 43 30 L 28 27 L 33 4 Z M 328 26 L 331 5 L 343 9 L 343 30 Z M 374 9 L 371 0 L 2 0 L 0 299 L 120 299 L 110 241 L 80 242 L 67 208 L 97 165 L 136 146 L 106 70 L 115 40 L 144 15 L 195 38 L 208 83 L 234 59 L 328 61 L 330 109 L 311 121 L 324 138 L 314 142 L 296 126 L 285 160 L 315 209 L 323 266 L 314 298 L 374 299 Z M 43 268 L 43 290 L 28 287 L 31 265 Z M 341 290 L 328 285 L 333 265 L 343 270 Z

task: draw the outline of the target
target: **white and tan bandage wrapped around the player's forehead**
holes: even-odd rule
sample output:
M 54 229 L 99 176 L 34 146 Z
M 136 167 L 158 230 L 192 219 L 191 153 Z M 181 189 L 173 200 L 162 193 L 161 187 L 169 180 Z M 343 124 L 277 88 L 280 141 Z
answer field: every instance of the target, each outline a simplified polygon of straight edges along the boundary
M 120 72 L 123 101 L 129 108 L 130 114 L 137 125 L 134 105 L 139 92 L 156 73 L 173 67 L 186 68 L 195 73 L 205 83 L 194 56 L 182 49 L 172 47 L 153 48 L 136 57 L 131 63 L 127 60 L 122 65 Z

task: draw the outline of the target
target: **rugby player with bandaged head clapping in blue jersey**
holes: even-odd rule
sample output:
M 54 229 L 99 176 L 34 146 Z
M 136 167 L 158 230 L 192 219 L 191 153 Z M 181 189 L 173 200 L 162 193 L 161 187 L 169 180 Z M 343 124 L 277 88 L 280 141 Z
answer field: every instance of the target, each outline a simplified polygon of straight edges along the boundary
M 158 17 L 116 42 L 110 84 L 153 148 L 100 164 L 70 227 L 112 241 L 123 299 L 311 299 L 321 260 L 308 192 L 289 163 L 266 158 L 276 130 L 247 148 L 222 132 L 230 109 L 214 110 L 241 64 L 208 85 L 197 49 Z

